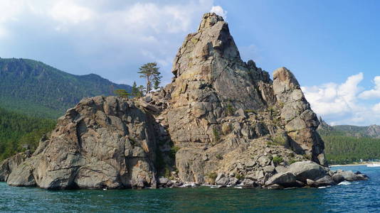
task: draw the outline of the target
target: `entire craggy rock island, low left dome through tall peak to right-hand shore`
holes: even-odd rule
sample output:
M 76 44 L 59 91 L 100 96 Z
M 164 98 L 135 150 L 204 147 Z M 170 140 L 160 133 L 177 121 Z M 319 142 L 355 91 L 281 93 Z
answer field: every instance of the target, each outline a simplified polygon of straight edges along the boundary
M 243 62 L 228 30 L 206 13 L 187 35 L 173 80 L 146 97 L 91 97 L 68 109 L 34 153 L 0 165 L 0 181 L 46 189 L 240 185 L 321 187 L 366 180 L 332 171 L 320 122 L 285 67 Z

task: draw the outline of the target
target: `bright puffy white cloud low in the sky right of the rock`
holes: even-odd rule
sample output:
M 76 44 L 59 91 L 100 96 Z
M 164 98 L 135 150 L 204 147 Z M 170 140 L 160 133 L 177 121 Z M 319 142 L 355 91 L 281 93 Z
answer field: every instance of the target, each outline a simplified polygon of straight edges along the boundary
M 352 124 L 369 125 L 380 122 L 380 103 L 363 102 L 363 73 L 352 75 L 342 84 L 330 82 L 320 86 L 302 87 L 305 97 L 319 116 L 332 125 Z

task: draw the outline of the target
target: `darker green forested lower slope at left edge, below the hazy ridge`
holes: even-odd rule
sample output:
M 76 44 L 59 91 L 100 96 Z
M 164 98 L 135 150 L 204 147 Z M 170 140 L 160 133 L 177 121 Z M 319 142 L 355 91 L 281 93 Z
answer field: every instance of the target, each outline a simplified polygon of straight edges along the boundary
M 0 108 L 0 162 L 30 148 L 34 151 L 40 138 L 56 126 L 52 119 L 40 119 Z

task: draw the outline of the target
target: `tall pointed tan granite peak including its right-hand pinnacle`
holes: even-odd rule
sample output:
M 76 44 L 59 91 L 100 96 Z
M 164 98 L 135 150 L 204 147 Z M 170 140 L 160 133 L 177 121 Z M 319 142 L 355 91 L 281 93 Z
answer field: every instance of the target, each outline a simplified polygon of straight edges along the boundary
M 244 161 L 265 153 L 263 158 L 271 153 L 287 158 L 287 148 L 324 165 L 323 142 L 315 132 L 319 122 L 295 77 L 280 68 L 272 82 L 252 60 L 243 62 L 220 16 L 204 15 L 198 32 L 179 49 L 172 72 L 163 116 L 171 141 L 181 148 L 176 155 L 181 180 L 205 182 L 211 173 L 260 179 L 253 170 L 270 160 L 254 169 Z M 267 148 L 274 138 L 280 146 Z

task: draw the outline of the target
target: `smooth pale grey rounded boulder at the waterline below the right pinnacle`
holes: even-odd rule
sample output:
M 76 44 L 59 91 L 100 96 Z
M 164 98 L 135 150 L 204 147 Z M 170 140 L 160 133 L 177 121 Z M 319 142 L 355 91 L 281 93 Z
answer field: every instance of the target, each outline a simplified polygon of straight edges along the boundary
M 292 163 L 289 166 L 290 173 L 293 173 L 297 180 L 306 182 L 307 179 L 318 180 L 327 175 L 327 171 L 322 165 L 312 161 L 301 161 Z

